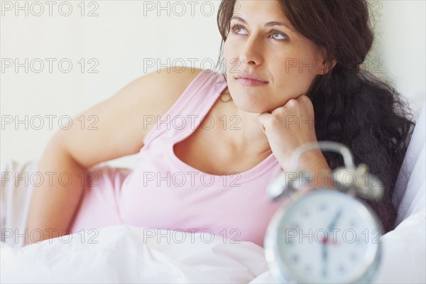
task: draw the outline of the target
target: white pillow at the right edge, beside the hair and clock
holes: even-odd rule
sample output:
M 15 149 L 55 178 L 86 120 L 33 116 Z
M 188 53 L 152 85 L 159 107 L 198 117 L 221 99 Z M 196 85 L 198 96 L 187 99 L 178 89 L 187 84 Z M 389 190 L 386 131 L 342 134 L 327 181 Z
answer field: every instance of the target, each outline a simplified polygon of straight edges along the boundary
M 398 226 L 382 236 L 383 257 L 375 283 L 426 283 L 425 105 L 395 185 Z

